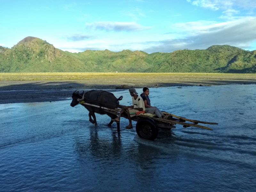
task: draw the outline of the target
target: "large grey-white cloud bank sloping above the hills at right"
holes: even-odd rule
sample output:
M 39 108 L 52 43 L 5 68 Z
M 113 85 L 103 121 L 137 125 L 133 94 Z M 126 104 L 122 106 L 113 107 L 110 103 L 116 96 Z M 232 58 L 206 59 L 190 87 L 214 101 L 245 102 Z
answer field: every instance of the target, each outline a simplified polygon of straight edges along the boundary
M 187 36 L 147 42 L 149 48 L 144 51 L 172 52 L 178 49 L 206 49 L 212 45 L 223 44 L 250 49 L 252 42 L 256 41 L 256 17 L 246 17 L 223 23 L 203 21 L 176 25 L 183 26 L 184 34 Z

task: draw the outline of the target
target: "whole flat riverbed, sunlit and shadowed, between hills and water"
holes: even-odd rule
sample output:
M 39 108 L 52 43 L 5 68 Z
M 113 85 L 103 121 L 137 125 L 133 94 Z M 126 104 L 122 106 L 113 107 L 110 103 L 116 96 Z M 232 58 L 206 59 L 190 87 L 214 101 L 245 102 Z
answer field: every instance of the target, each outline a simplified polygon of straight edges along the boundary
M 0 104 L 57 101 L 74 90 L 256 84 L 256 74 L 0 73 Z

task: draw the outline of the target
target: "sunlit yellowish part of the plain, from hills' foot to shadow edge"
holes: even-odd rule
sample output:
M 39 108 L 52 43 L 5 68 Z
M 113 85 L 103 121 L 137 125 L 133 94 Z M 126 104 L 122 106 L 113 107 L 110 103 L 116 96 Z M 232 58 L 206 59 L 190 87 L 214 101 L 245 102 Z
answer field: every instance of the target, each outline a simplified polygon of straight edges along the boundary
M 252 84 L 256 74 L 233 73 L 0 73 L 1 81 L 76 81 L 84 84 Z

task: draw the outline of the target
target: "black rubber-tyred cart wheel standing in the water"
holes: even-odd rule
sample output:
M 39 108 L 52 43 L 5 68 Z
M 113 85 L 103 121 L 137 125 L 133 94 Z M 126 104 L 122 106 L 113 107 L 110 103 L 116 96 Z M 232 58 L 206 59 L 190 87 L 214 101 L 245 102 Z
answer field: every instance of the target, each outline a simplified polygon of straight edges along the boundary
M 153 119 L 144 117 L 137 122 L 136 132 L 141 138 L 155 140 L 158 135 L 158 128 Z

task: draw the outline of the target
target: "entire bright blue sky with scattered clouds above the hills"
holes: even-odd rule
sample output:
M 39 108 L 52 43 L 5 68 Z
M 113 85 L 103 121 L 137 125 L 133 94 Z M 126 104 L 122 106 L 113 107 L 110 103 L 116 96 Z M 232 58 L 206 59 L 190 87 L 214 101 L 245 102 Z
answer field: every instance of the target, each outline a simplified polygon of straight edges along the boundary
M 63 51 L 256 50 L 256 0 L 0 0 L 0 45 L 27 36 Z

